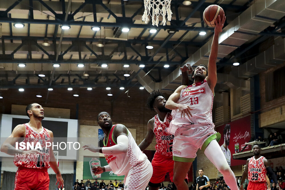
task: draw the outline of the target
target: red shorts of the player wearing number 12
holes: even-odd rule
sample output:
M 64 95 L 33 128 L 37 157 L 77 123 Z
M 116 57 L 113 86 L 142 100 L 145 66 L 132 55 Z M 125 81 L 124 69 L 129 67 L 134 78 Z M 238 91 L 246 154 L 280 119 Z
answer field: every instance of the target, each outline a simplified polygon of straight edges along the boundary
M 156 152 L 151 161 L 152 176 L 150 178 L 151 183 L 160 183 L 164 181 L 165 175 L 169 172 L 170 180 L 173 181 L 173 166 L 174 161 L 172 157 L 162 156 Z

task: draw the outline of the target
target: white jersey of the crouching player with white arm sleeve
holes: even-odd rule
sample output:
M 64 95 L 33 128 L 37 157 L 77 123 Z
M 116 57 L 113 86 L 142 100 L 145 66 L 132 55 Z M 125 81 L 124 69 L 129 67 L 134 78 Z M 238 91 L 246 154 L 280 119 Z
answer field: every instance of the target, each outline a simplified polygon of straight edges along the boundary
M 114 146 L 115 143 L 113 140 L 113 129 L 115 125 L 111 128 L 109 135 L 105 136 L 103 142 L 104 147 Z M 128 129 L 127 129 L 128 130 Z M 106 142 L 107 138 L 107 142 Z M 129 139 L 129 148 L 126 154 L 104 154 L 105 159 L 109 166 L 111 167 L 113 173 L 120 175 L 126 175 L 131 168 L 140 164 L 147 159 L 146 155 L 141 151 L 137 145 L 135 139 L 133 138 L 131 132 L 128 130 L 128 139 Z

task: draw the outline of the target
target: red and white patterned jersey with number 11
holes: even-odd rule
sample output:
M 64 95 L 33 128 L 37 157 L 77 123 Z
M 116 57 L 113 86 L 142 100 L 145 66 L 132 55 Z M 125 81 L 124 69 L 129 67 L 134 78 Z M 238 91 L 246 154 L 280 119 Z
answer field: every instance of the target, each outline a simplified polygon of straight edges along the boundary
M 48 131 L 46 128 L 42 127 L 41 132 L 34 131 L 28 123 L 23 124 L 26 127 L 26 136 L 25 139 L 22 142 L 25 142 L 25 145 L 29 142 L 30 144 L 34 143 L 34 146 L 37 142 L 40 143 L 40 147 L 42 150 L 39 150 L 40 152 L 43 152 L 43 155 L 28 155 L 25 154 L 22 156 L 21 154 L 14 156 L 14 164 L 17 167 L 28 167 L 28 168 L 49 168 L 50 167 L 50 149 L 46 148 L 46 142 L 50 142 L 50 135 L 48 134 Z M 19 142 L 20 143 L 20 142 Z M 27 150 L 27 149 L 25 149 Z

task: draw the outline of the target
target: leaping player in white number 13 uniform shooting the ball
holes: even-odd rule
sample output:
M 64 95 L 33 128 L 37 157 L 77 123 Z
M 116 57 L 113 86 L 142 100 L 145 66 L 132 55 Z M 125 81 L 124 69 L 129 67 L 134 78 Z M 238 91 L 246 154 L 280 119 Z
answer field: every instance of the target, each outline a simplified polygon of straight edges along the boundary
M 230 189 L 238 189 L 235 175 L 215 140 L 218 135 L 212 122 L 213 94 L 217 83 L 218 40 L 219 33 L 225 23 L 225 15 L 222 19 L 218 16 L 217 20 L 208 62 L 209 70 L 205 65 L 196 67 L 193 75 L 194 83 L 178 87 L 169 97 L 165 106 L 173 110 L 173 120 L 170 122 L 168 131 L 174 134 L 173 181 L 178 190 L 188 189 L 183 176 L 186 175 L 188 168 L 197 156 L 196 152 L 199 148 L 223 174 Z

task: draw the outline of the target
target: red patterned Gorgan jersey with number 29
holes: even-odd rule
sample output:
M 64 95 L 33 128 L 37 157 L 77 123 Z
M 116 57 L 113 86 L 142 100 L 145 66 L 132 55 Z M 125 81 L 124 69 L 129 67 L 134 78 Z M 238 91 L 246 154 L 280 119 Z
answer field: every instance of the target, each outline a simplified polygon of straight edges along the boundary
M 252 182 L 264 182 L 266 181 L 266 168 L 263 160 L 265 158 L 260 156 L 255 160 L 254 156 L 250 158 L 248 165 L 248 179 Z

